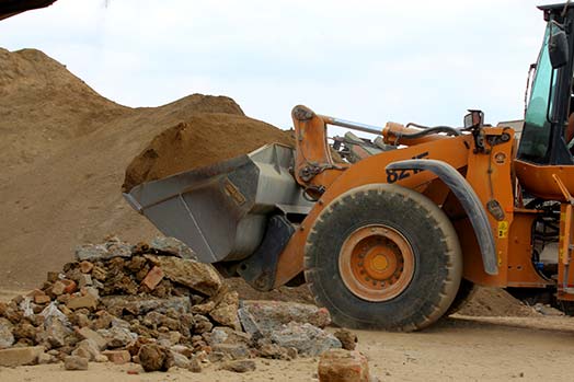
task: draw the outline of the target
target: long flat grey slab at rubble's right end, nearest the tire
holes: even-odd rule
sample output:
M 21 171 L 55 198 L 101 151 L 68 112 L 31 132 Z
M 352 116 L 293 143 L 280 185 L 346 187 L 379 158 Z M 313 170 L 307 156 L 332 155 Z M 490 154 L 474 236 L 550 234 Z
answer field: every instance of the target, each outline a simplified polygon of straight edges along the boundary
M 241 309 L 251 316 L 243 314 L 241 323 L 245 332 L 250 334 L 259 328 L 263 335 L 268 335 L 290 322 L 309 323 L 317 327 L 325 327 L 331 324 L 331 315 L 325 308 L 311 304 L 284 301 L 242 301 Z M 241 317 L 241 314 L 240 314 Z M 248 320 L 245 320 L 248 319 Z M 249 321 L 253 319 L 256 328 Z M 251 332 L 250 332 L 251 331 Z

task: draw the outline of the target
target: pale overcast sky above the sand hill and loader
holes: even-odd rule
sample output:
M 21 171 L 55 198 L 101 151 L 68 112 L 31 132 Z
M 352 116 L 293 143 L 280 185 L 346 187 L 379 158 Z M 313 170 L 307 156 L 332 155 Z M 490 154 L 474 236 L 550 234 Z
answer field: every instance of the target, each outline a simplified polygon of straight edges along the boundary
M 521 118 L 539 1 L 58 0 L 0 22 L 102 95 L 156 106 L 228 95 L 290 127 L 290 109 L 383 125 Z

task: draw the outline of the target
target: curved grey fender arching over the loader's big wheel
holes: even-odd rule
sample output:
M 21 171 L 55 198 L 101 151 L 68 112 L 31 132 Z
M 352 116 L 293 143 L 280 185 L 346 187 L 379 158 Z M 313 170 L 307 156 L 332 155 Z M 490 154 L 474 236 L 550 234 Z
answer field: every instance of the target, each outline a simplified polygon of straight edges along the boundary
M 491 224 L 481 200 L 467 180 L 450 164 L 432 159 L 412 159 L 393 162 L 388 170 L 431 171 L 443 181 L 458 198 L 470 219 L 482 255 L 484 271 L 491 276 L 498 274 L 496 248 Z

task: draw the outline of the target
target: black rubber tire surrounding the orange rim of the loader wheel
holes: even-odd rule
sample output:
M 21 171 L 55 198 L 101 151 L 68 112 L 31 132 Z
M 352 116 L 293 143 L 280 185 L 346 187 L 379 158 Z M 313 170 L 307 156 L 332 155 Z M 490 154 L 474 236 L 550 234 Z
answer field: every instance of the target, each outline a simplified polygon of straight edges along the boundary
M 400 232 L 415 263 L 405 289 L 382 302 L 357 297 L 340 273 L 346 238 L 374 224 Z M 351 328 L 427 327 L 452 303 L 461 273 L 460 244 L 447 216 L 425 196 L 398 185 L 371 184 L 341 195 L 319 215 L 305 248 L 305 277 L 315 302 L 335 324 Z

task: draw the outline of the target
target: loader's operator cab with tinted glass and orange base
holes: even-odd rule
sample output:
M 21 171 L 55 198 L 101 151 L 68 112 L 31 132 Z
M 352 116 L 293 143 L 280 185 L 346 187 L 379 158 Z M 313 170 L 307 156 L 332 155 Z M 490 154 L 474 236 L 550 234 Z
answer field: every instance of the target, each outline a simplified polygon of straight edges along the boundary
M 574 4 L 539 9 L 547 27 L 535 65 L 515 171 L 528 195 L 570 200 L 574 195 L 574 157 L 570 150 L 574 146 Z

